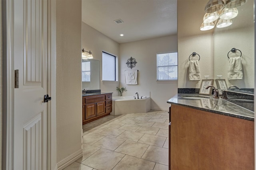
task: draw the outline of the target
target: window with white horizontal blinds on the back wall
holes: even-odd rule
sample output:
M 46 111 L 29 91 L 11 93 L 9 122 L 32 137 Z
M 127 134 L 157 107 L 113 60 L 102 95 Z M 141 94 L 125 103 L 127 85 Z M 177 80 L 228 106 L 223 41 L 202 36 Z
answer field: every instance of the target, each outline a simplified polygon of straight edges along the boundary
M 158 53 L 157 80 L 178 80 L 178 53 Z

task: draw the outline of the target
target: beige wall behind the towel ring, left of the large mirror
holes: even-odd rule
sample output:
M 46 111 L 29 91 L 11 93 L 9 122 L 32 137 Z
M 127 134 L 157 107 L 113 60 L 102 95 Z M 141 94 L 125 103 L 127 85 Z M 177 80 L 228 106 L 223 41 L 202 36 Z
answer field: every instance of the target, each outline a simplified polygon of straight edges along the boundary
M 201 81 L 189 81 L 188 57 L 196 52 L 200 55 L 201 78 L 213 79 L 213 37 L 212 30 L 200 31 L 205 14 L 206 0 L 178 0 L 178 88 L 200 88 Z M 191 10 L 193 9 L 193 10 Z M 186 13 L 187 11 L 187 13 Z M 188 12 L 190 12 L 188 14 Z M 191 60 L 198 59 L 191 57 Z

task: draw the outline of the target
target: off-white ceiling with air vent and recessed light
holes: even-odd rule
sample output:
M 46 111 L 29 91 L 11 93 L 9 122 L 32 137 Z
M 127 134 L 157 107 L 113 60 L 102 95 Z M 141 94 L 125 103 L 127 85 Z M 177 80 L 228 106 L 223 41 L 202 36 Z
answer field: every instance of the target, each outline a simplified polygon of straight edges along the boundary
M 82 21 L 118 43 L 176 35 L 177 0 L 82 0 Z

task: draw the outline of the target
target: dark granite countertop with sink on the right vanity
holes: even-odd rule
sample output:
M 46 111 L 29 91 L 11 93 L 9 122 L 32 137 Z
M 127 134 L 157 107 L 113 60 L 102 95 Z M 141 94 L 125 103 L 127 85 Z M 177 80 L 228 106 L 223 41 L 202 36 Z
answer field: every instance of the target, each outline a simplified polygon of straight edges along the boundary
M 200 96 L 202 98 L 200 99 L 184 98 L 185 96 L 191 96 L 191 97 Z M 242 100 L 240 101 L 240 103 L 241 102 Z M 244 100 L 244 102 L 248 103 L 247 100 Z M 200 94 L 176 94 L 173 98 L 170 98 L 167 101 L 167 103 L 187 106 L 194 109 L 199 109 L 199 110 L 226 115 L 230 117 L 236 117 L 240 119 L 254 121 L 254 111 L 238 106 L 237 104 L 234 104 L 222 98 L 214 99 L 212 98 L 212 95 L 208 96 L 208 95 L 200 95 Z M 251 104 L 253 107 L 254 103 L 252 102 Z

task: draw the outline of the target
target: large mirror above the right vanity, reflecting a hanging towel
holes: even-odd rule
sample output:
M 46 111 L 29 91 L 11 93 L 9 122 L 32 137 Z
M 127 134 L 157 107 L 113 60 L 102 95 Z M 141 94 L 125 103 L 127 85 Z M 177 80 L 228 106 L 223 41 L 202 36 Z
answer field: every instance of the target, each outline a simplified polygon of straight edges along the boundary
M 254 1 L 237 7 L 238 15 L 232 19 L 232 25 L 214 28 L 213 55 L 214 79 L 225 79 L 228 90 L 254 94 Z M 232 49 L 236 48 L 236 52 Z M 230 52 L 231 51 L 231 52 Z M 229 80 L 229 58 L 240 57 L 242 61 L 242 79 Z M 228 58 L 229 57 L 229 58 Z M 233 88 L 236 86 L 237 88 Z

